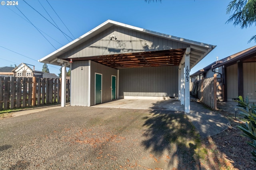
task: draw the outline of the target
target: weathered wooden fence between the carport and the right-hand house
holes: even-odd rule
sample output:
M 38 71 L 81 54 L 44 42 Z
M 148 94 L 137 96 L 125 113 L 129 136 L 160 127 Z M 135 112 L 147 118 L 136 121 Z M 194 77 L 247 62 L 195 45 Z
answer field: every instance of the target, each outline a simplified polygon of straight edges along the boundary
M 206 106 L 217 110 L 217 76 L 195 81 L 190 88 L 191 94 L 196 96 Z

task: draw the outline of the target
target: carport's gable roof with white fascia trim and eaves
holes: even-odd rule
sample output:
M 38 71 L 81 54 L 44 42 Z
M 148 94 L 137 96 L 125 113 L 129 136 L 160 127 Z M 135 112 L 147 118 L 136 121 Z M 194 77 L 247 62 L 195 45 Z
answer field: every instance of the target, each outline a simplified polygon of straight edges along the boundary
M 183 44 L 186 44 L 186 45 L 190 45 L 190 48 L 191 48 L 191 51 L 190 51 L 190 59 L 191 59 L 190 60 L 190 68 L 192 68 L 199 61 L 201 61 L 208 53 L 210 53 L 210 51 L 212 51 L 216 47 L 215 45 L 200 43 L 200 42 L 197 42 L 197 41 L 192 41 L 192 40 L 188 40 L 188 39 L 184 39 L 184 38 L 180 38 L 180 37 L 175 37 L 175 36 L 172 36 L 172 35 L 167 35 L 167 34 L 158 33 L 158 32 L 155 32 L 155 31 L 150 31 L 150 30 L 147 30 L 147 29 L 142 29 L 142 28 L 139 28 L 139 27 L 134 27 L 134 26 L 131 26 L 131 25 L 127 25 L 127 24 L 112 21 L 112 20 L 107 20 L 104 23 L 102 23 L 99 26 L 92 29 L 91 31 L 88 31 L 87 33 L 85 33 L 81 37 L 75 39 L 74 41 L 68 43 L 67 45 L 64 45 L 60 49 L 50 53 L 49 55 L 47 55 L 46 57 L 43 57 L 42 59 L 40 59 L 38 61 L 42 62 L 42 63 L 47 63 L 47 64 L 60 65 L 60 63 L 57 62 L 58 57 L 60 57 L 64 53 L 70 51 L 71 49 L 77 47 L 78 45 L 81 45 L 82 43 L 86 42 L 90 38 L 98 35 L 102 31 L 112 27 L 113 25 L 118 26 L 118 27 L 123 27 L 123 28 L 129 29 L 129 30 L 132 30 L 132 31 L 146 33 L 146 34 L 153 35 L 153 36 L 156 36 L 156 37 L 161 37 L 161 38 L 164 38 L 164 39 L 167 39 L 167 40 L 176 41 L 176 42 L 180 42 L 180 43 L 183 43 Z M 183 51 L 184 51 L 184 49 L 183 49 Z M 170 53 L 172 53 L 172 52 L 170 52 Z M 183 54 L 184 54 L 184 52 L 183 52 Z

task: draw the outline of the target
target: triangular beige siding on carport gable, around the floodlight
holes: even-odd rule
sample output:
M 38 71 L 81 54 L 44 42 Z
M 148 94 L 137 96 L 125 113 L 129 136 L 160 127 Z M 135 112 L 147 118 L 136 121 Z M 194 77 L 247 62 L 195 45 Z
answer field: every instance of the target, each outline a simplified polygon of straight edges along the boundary
M 109 39 L 111 35 L 115 35 L 117 40 L 111 41 Z M 186 47 L 189 47 L 189 45 L 122 27 L 112 26 L 78 47 L 64 53 L 60 58 L 90 57 Z

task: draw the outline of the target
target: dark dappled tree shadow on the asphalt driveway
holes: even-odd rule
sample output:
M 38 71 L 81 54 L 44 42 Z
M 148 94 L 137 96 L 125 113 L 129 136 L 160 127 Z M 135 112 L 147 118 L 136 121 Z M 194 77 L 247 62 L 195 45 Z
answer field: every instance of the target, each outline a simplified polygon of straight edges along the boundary
M 158 156 L 169 153 L 169 168 L 201 169 L 194 152 L 200 137 L 183 111 L 153 110 L 144 119 L 146 149 Z

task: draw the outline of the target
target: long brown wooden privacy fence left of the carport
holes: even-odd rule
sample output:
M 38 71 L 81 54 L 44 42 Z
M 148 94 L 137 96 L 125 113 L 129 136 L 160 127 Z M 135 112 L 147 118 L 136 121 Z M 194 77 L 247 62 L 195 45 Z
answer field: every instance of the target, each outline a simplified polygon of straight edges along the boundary
M 70 81 L 66 80 L 66 102 L 70 102 Z M 61 79 L 0 77 L 0 110 L 61 101 Z

